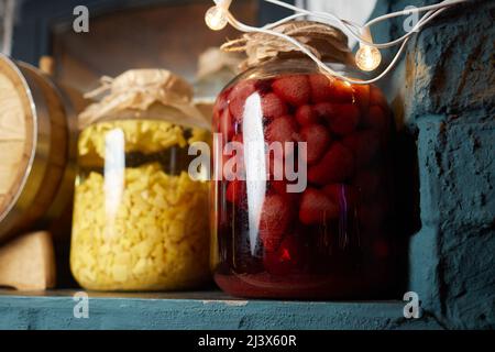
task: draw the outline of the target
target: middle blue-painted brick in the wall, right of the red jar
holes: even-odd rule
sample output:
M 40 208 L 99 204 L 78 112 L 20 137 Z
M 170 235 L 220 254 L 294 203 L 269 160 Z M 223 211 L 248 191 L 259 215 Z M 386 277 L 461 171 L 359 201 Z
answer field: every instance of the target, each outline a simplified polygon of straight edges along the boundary
M 463 227 L 494 221 L 495 121 L 463 120 L 427 116 L 417 123 L 425 223 L 448 219 Z

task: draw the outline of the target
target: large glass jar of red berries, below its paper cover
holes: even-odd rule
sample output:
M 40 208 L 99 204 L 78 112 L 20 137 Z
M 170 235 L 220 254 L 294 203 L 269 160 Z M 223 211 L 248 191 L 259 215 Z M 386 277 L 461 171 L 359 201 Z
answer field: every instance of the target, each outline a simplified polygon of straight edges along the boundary
M 394 257 L 393 130 L 377 87 L 328 77 L 308 59 L 275 59 L 238 76 L 213 114 L 222 173 L 212 183 L 217 284 L 241 297 L 383 293 Z M 297 147 L 277 156 L 274 142 Z M 306 175 L 302 189 L 287 187 L 300 180 L 287 165 Z

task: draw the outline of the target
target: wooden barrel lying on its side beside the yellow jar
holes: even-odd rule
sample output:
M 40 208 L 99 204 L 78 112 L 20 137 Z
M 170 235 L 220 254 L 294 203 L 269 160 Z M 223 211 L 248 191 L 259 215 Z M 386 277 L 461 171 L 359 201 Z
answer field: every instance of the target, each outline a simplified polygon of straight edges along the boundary
M 72 206 L 76 114 L 33 66 L 0 55 L 0 241 Z

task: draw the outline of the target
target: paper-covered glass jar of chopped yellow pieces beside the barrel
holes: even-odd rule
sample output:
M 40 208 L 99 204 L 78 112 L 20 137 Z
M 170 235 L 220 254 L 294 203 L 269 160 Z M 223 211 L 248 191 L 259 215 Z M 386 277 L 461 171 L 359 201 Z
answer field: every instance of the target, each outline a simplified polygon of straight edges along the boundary
M 97 290 L 206 283 L 208 175 L 189 176 L 188 147 L 208 143 L 210 133 L 189 103 L 190 87 L 165 70 L 132 70 L 106 79 L 97 94 L 105 90 L 79 117 L 75 278 Z

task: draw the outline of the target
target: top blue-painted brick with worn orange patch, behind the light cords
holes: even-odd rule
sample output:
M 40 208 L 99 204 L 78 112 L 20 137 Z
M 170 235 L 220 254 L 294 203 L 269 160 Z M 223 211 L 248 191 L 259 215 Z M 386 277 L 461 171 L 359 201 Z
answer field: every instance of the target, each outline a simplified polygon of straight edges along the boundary
M 469 10 L 448 10 L 411 41 L 406 59 L 410 117 L 474 109 L 494 114 L 494 18 L 495 2 L 479 1 Z

